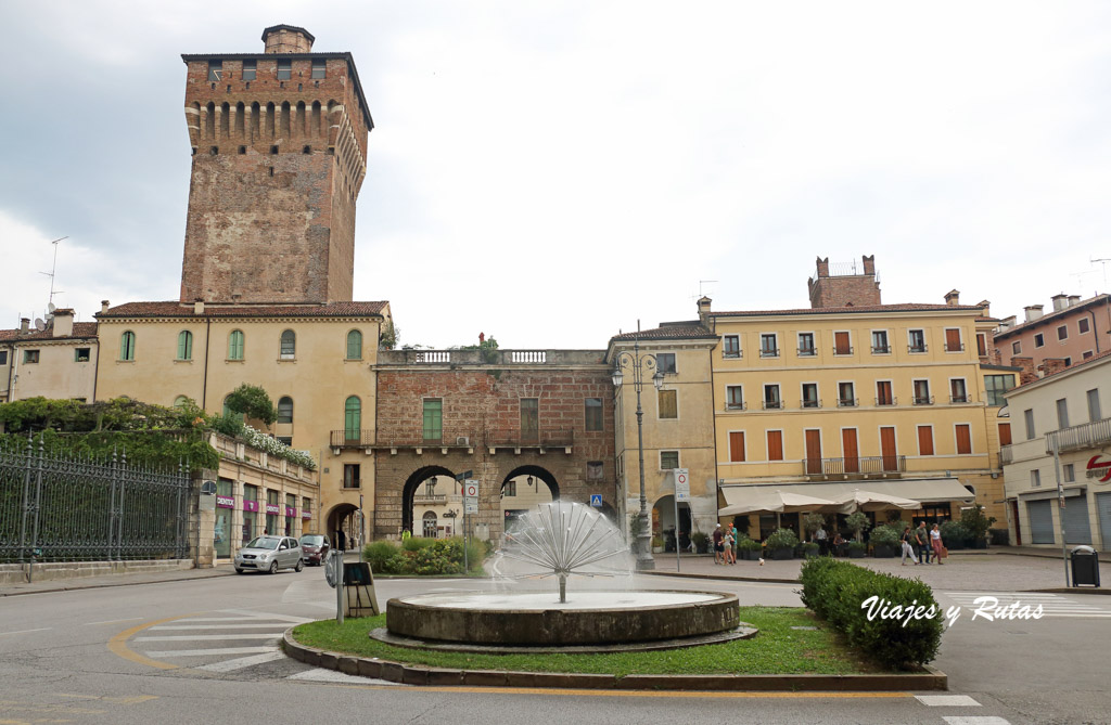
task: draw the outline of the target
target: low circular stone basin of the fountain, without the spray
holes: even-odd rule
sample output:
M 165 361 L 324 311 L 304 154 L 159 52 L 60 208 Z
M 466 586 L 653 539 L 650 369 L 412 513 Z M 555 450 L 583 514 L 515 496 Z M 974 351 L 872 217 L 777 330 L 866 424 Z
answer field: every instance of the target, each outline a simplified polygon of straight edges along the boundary
M 389 601 L 393 637 L 470 645 L 621 645 L 733 632 L 739 605 L 715 592 L 577 591 L 421 594 Z M 675 645 L 680 646 L 680 645 Z

